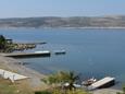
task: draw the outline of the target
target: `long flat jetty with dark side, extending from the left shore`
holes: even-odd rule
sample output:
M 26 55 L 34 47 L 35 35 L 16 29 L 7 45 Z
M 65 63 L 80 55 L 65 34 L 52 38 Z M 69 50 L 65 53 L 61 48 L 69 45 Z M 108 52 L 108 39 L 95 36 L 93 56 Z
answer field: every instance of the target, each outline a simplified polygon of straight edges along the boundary
M 11 52 L 11 54 L 0 54 L 4 57 L 13 58 L 28 58 L 28 57 L 50 57 L 51 52 L 49 50 L 35 51 L 35 52 Z

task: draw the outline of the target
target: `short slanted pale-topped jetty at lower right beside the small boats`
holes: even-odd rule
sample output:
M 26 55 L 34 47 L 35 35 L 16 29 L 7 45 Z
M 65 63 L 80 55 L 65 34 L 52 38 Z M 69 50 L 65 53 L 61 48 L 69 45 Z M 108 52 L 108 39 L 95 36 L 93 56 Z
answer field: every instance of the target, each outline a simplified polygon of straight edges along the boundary
M 96 90 L 96 89 L 102 89 L 102 87 L 109 87 L 115 84 L 115 78 L 105 77 L 91 85 L 88 86 L 88 90 Z

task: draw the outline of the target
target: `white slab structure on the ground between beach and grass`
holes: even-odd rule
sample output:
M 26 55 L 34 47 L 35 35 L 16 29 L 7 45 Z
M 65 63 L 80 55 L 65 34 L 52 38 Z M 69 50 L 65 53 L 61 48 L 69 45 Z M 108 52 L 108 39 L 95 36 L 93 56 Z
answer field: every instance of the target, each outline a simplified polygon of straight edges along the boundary
M 0 69 L 0 78 L 9 79 L 11 82 L 28 79 L 28 77 Z

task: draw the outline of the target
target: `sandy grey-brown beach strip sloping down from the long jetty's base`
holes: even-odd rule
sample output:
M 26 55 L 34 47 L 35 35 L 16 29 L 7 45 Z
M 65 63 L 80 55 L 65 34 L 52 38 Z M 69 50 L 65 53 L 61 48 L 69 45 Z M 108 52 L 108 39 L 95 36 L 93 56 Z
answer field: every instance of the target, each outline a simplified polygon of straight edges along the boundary
M 46 84 L 41 81 L 42 78 L 46 78 L 45 74 L 20 63 L 22 63 L 22 61 L 17 59 L 0 56 L 0 69 L 28 77 L 29 79 L 27 79 L 26 82 L 34 90 L 39 90 L 41 86 L 46 87 Z

